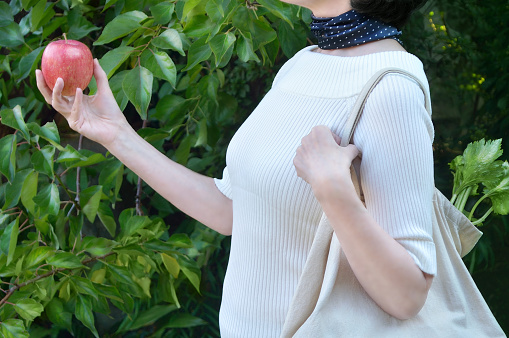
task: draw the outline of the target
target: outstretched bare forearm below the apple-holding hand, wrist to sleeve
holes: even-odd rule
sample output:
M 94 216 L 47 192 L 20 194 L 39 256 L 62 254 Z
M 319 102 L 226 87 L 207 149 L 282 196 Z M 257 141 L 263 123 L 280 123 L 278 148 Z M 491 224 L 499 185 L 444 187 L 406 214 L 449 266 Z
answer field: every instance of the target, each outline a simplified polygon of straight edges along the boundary
M 214 180 L 170 160 L 124 127 L 106 148 L 161 196 L 206 226 L 230 235 L 232 201 L 217 189 Z

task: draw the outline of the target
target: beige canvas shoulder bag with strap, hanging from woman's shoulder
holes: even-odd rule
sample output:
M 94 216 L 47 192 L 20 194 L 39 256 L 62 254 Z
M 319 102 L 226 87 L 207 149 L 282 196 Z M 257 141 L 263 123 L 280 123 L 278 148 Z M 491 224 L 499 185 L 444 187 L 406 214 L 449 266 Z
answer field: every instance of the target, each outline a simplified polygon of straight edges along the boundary
M 416 81 L 430 112 L 427 91 L 416 77 L 401 69 L 383 69 L 359 94 L 344 129 L 342 146 L 350 143 L 369 93 L 389 73 Z M 357 191 L 361 196 L 360 186 Z M 437 189 L 432 219 L 437 274 L 419 314 L 398 320 L 364 291 L 323 215 L 281 337 L 506 337 L 461 259 L 482 233 Z

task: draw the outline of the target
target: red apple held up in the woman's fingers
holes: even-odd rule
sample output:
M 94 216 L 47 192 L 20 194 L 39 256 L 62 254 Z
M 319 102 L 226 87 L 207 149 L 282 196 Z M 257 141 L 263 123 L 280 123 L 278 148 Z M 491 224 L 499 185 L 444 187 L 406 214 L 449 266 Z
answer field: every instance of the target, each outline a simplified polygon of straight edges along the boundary
M 41 71 L 51 90 L 60 77 L 64 80 L 62 95 L 73 96 L 76 88 L 87 88 L 92 79 L 92 52 L 85 44 L 76 40 L 53 41 L 44 49 Z

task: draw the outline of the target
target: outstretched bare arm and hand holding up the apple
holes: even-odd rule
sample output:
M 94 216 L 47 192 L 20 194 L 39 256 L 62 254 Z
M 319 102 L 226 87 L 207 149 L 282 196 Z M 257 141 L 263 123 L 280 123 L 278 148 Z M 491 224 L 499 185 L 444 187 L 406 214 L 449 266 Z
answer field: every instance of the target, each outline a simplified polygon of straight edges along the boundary
M 37 86 L 46 101 L 67 119 L 72 129 L 102 144 L 189 216 L 222 234 L 231 234 L 232 201 L 217 189 L 212 178 L 171 161 L 131 128 L 97 60 L 94 60 L 94 77 L 98 90 L 93 96 L 85 96 L 77 89 L 75 96 L 64 97 L 61 95 L 62 79 L 51 91 L 39 70 L 36 76 Z

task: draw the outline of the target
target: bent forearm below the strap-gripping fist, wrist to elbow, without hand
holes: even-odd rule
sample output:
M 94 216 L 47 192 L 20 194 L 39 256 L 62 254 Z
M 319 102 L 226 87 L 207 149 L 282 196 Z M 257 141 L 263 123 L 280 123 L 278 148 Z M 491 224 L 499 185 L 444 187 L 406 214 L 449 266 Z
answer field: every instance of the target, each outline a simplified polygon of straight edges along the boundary
M 364 290 L 392 316 L 415 316 L 424 305 L 432 277 L 377 224 L 353 186 L 349 193 L 344 188 L 339 193 L 329 182 L 326 190 L 320 203 Z

